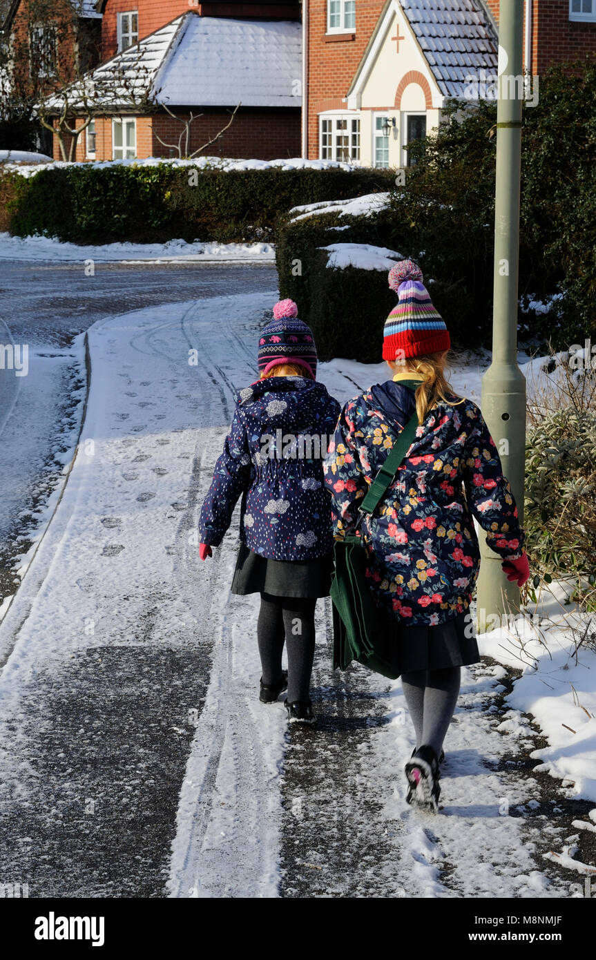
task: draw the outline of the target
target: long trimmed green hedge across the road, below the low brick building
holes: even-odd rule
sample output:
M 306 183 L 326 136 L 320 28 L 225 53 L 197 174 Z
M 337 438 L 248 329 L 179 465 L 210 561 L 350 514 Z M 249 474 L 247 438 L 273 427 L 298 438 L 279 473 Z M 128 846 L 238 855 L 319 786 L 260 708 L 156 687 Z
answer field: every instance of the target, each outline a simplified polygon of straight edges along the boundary
M 196 180 L 196 185 L 192 180 Z M 280 214 L 298 204 L 387 190 L 389 171 L 75 164 L 10 178 L 9 228 L 75 243 L 271 241 Z M 192 183 L 192 185 L 191 185 Z M 5 193 L 7 188 L 5 185 Z

